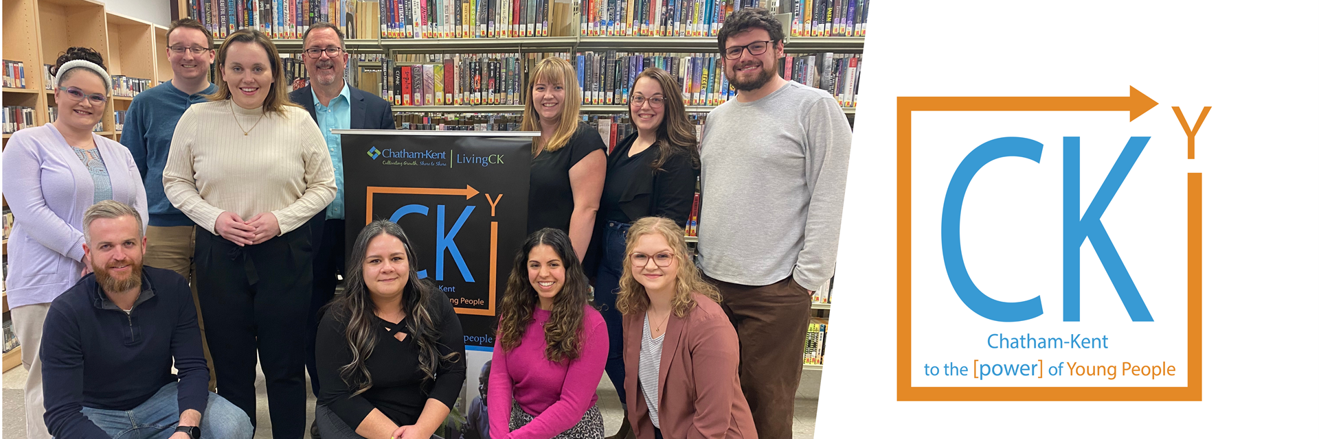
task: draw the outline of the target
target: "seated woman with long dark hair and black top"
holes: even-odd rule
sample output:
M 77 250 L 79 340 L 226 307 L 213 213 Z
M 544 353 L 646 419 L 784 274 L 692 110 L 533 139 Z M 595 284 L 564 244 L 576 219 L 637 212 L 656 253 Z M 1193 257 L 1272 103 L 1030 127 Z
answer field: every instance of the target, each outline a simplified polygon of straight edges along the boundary
M 321 436 L 431 438 L 467 373 L 454 305 L 417 278 L 415 252 L 392 221 L 361 229 L 347 269 L 317 331 Z

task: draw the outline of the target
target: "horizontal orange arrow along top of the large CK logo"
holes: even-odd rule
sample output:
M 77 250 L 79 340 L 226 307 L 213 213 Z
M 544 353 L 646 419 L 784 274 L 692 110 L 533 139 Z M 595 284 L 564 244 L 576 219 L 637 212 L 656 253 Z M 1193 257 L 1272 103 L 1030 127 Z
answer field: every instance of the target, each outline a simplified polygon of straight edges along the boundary
M 898 98 L 898 112 L 904 111 L 1126 111 L 1132 119 L 1140 117 L 1158 105 L 1154 99 L 1130 87 L 1129 96 L 1059 98 L 1059 96 L 931 96 Z

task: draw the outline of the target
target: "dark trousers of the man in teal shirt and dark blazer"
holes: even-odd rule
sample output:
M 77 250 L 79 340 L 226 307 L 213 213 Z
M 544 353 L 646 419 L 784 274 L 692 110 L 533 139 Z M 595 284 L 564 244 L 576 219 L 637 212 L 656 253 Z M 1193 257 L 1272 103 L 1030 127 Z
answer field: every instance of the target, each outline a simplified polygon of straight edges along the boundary
M 311 225 L 311 307 L 307 314 L 307 374 L 311 377 L 313 394 L 321 394 L 321 381 L 317 377 L 317 328 L 321 324 L 321 308 L 334 299 L 338 276 L 343 270 L 346 252 L 344 220 L 324 219 L 321 211 L 307 224 Z

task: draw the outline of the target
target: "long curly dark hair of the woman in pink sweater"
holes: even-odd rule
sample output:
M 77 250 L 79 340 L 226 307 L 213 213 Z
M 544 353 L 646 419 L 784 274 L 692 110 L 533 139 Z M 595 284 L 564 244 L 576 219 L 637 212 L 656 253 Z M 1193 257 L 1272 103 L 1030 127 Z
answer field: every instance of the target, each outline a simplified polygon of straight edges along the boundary
M 513 257 L 513 273 L 508 276 L 508 289 L 500 303 L 499 343 L 504 352 L 522 344 L 541 298 L 532 289 L 526 265 L 533 248 L 549 245 L 563 262 L 563 287 L 554 295 L 554 310 L 550 322 L 545 323 L 545 357 L 550 361 L 574 360 L 582 353 L 582 327 L 586 320 L 586 298 L 591 294 L 591 283 L 582 272 L 582 262 L 572 252 L 568 235 L 557 228 L 542 228 L 533 232 L 522 243 Z

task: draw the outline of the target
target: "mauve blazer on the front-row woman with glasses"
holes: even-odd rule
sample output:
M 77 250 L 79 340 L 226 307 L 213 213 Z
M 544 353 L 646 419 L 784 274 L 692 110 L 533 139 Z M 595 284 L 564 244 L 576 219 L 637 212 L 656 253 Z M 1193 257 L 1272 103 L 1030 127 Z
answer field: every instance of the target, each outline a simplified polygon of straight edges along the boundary
M 665 438 L 754 439 L 756 424 L 737 378 L 737 331 L 719 303 L 692 294 L 686 316 L 670 316 L 660 360 L 660 431 Z M 637 366 L 645 314 L 623 316 L 628 422 L 640 439 L 654 439 Z

